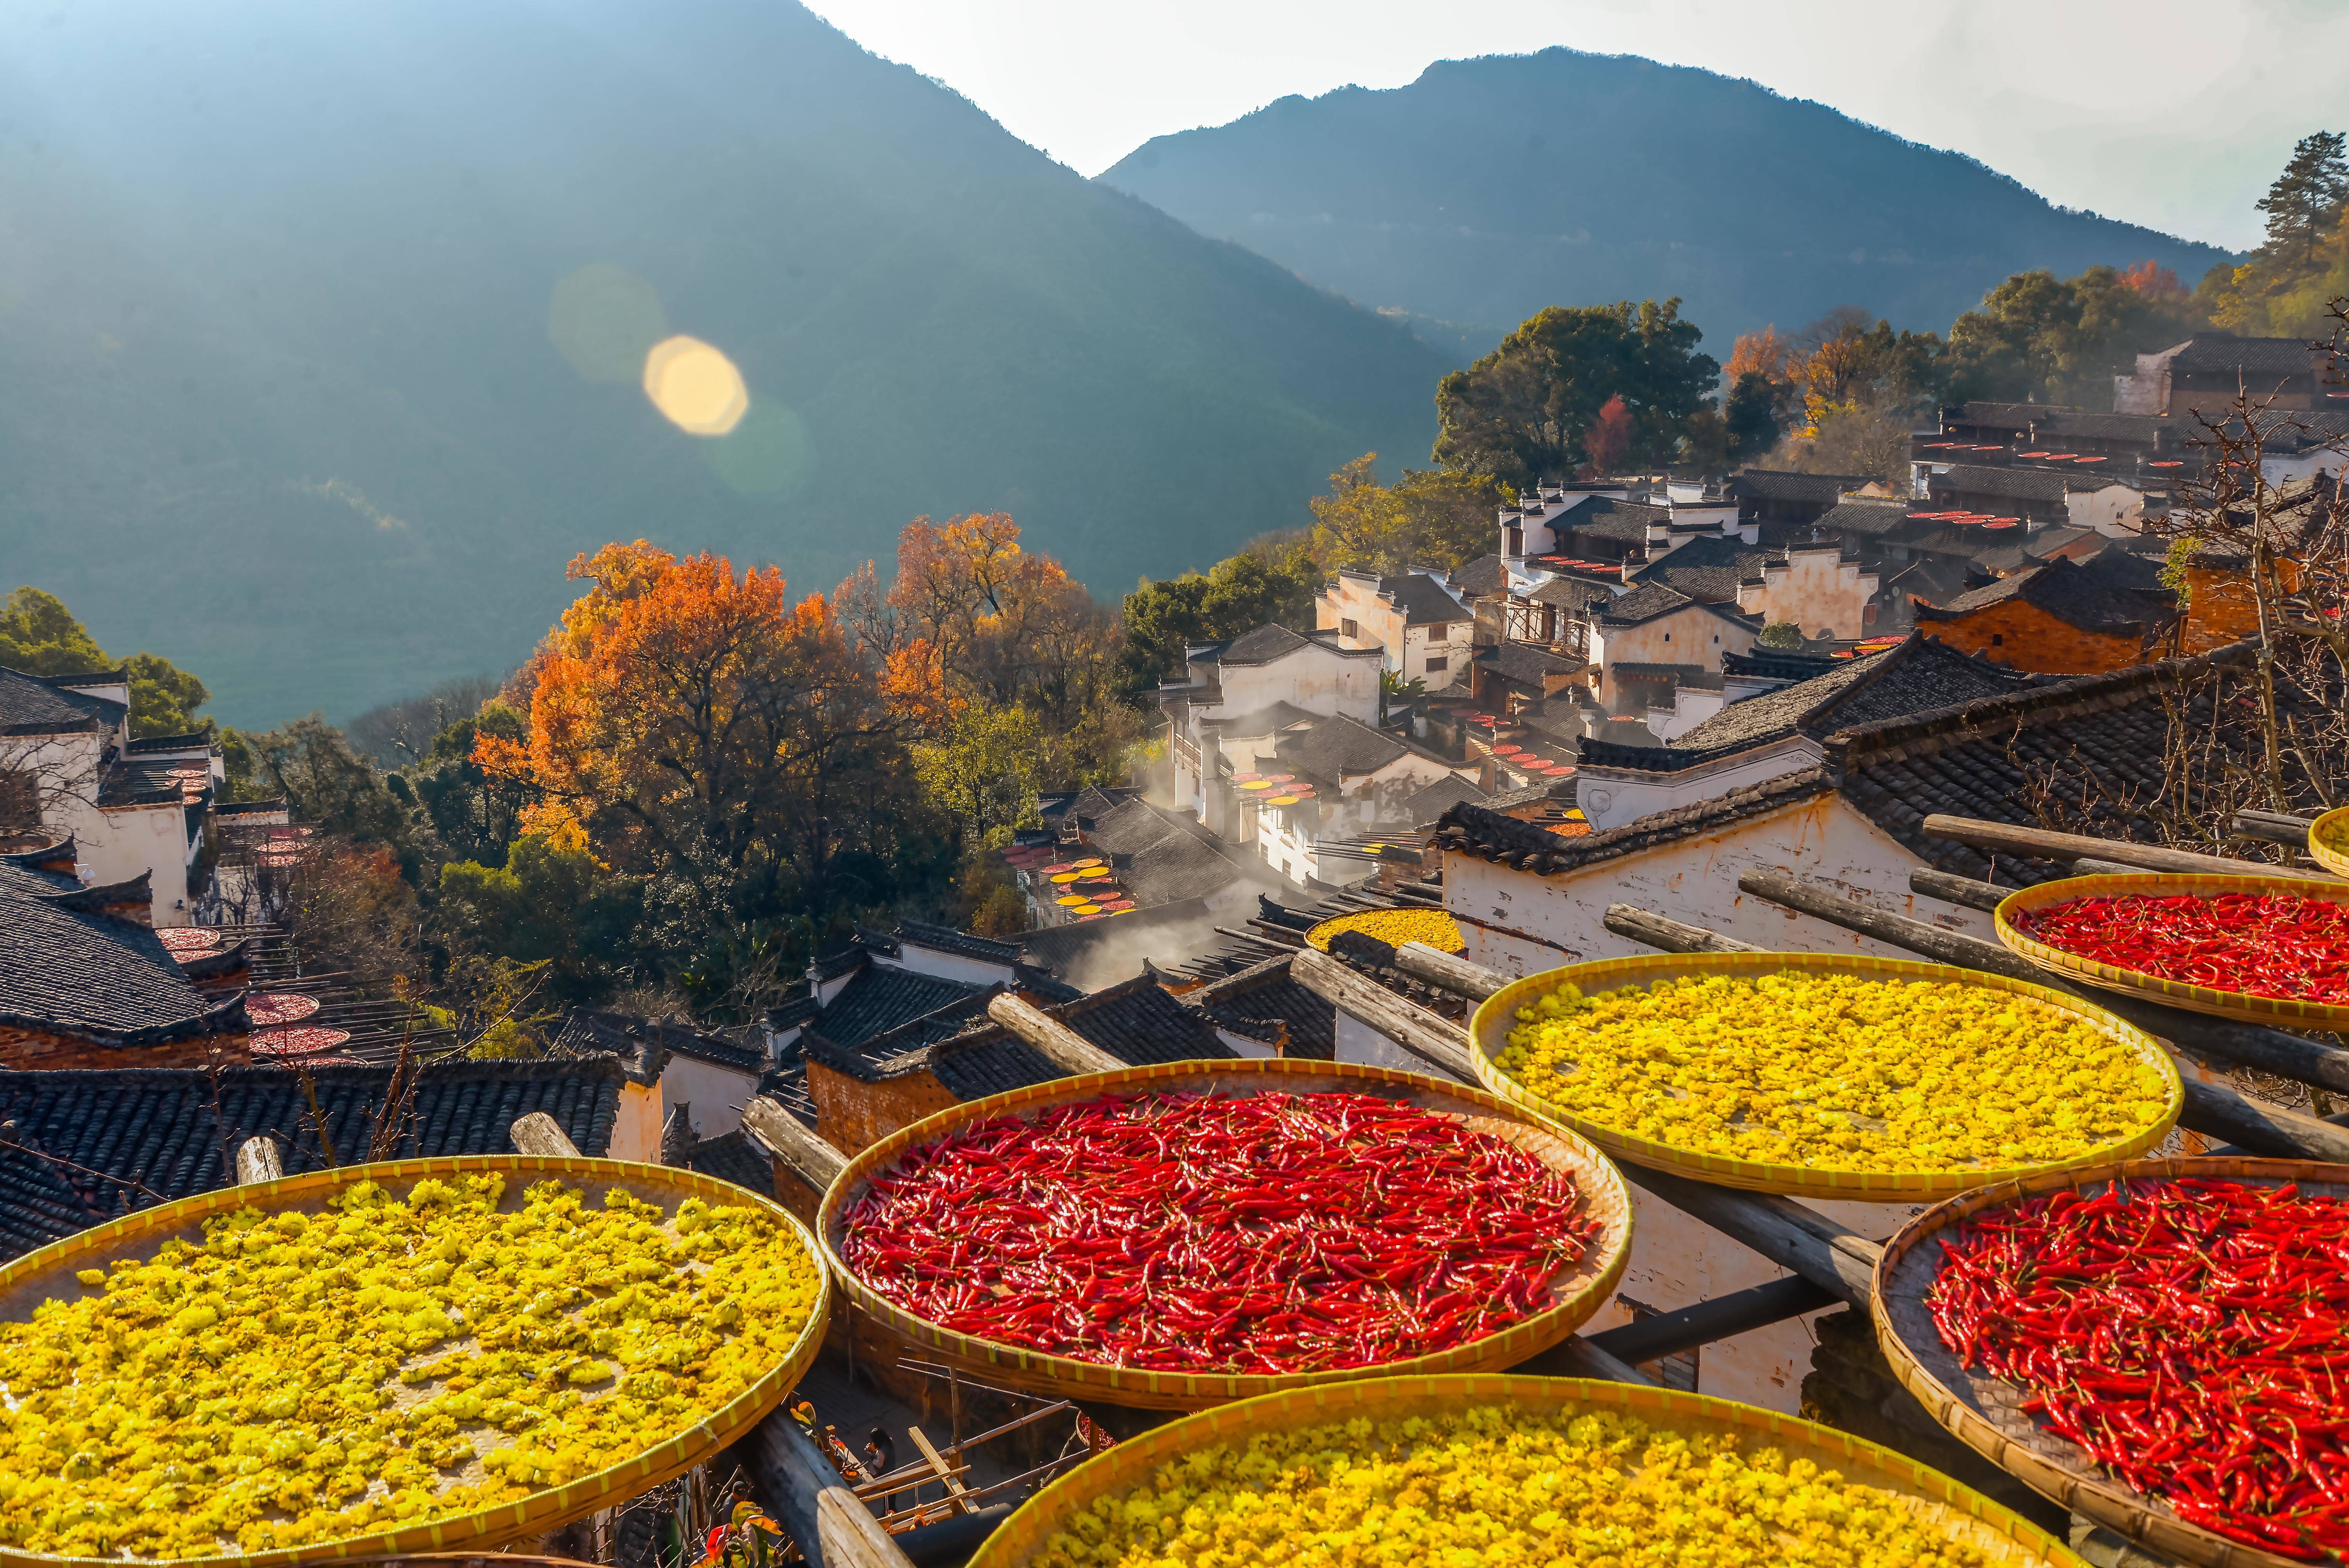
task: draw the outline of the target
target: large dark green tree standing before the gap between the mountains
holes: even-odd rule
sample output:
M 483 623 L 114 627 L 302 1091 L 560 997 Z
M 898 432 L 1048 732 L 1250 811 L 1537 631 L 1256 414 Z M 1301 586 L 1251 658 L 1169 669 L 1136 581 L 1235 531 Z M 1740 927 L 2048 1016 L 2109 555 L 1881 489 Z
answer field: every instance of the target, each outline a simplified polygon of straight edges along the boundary
M 1435 385 L 1435 460 L 1515 488 L 1571 479 L 1590 462 L 1600 413 L 1621 397 L 1630 413 L 1626 460 L 1670 462 L 1722 369 L 1696 352 L 1701 338 L 1680 319 L 1677 298 L 1550 305 Z

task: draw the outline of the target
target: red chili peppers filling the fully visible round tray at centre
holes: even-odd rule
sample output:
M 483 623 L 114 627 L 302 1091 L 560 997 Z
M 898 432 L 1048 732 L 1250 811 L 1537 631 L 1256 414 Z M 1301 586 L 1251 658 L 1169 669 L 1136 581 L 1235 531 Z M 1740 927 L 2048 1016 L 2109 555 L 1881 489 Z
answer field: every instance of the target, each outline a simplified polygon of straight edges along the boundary
M 1109 1366 L 1377 1366 L 1532 1317 L 1597 1223 L 1574 1178 L 1374 1094 L 1149 1094 L 911 1150 L 846 1214 L 933 1324 Z

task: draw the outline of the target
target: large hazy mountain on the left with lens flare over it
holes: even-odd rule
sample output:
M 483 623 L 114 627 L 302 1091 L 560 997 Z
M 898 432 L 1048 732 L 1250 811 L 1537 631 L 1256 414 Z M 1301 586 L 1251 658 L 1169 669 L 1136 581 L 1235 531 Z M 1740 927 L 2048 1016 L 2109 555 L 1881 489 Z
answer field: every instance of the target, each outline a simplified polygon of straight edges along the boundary
M 1447 357 L 789 0 L 82 0 L 0 7 L 0 592 L 272 723 L 512 667 L 615 538 L 829 589 L 1005 509 L 1116 596 L 1423 458 Z

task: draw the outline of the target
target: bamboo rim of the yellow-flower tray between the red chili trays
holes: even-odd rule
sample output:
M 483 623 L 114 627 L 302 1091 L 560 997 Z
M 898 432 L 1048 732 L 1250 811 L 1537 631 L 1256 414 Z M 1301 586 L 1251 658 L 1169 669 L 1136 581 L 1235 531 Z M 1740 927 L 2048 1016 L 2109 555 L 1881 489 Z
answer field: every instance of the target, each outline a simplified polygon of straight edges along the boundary
M 1508 1030 L 1517 1023 L 1517 1007 L 1532 998 L 1548 995 L 1560 986 L 1576 986 L 1583 995 L 1590 995 L 1593 991 L 1616 991 L 1635 984 L 1649 986 L 1654 981 L 1677 979 L 1684 974 L 1729 974 L 1748 979 L 1778 974 L 1783 969 L 1860 974 L 1886 981 L 1954 981 L 1961 986 L 1980 986 L 1985 991 L 2004 991 L 2008 995 L 2025 995 L 2034 1002 L 2046 1002 L 2048 1007 L 2135 1047 L 2138 1054 L 2161 1073 L 2161 1082 L 2166 1084 L 2161 1115 L 2154 1117 L 2152 1127 L 2123 1138 L 2121 1143 L 2109 1143 L 2051 1164 L 2011 1169 L 1983 1167 L 1964 1171 L 1837 1171 L 1806 1164 L 1736 1160 L 1731 1155 L 1708 1155 L 1677 1148 L 1672 1143 L 1640 1138 L 1576 1110 L 1553 1106 L 1494 1063 L 1494 1056 L 1508 1047 Z M 1485 1080 L 1487 1089 L 1515 1106 L 1525 1106 L 1548 1122 L 1571 1127 L 1616 1160 L 1628 1160 L 1630 1164 L 1642 1164 L 1656 1171 L 1680 1171 L 1696 1176 L 1698 1181 L 1710 1181 L 1719 1188 L 1776 1192 L 1783 1197 L 1842 1197 L 1872 1204 L 1907 1204 L 1964 1192 L 1983 1185 L 1985 1181 L 2011 1181 L 2015 1176 L 2034 1176 L 2039 1171 L 2109 1164 L 2114 1160 L 2142 1155 L 2161 1143 L 2161 1138 L 2168 1136 L 2170 1124 L 2178 1122 L 2178 1113 L 2185 1108 L 2185 1084 L 2178 1082 L 2178 1063 L 2170 1061 L 2170 1054 L 2161 1049 L 2152 1035 L 2123 1023 L 2102 1007 L 2081 1002 L 2077 995 L 2062 991 L 2006 979 L 2004 974 L 1959 969 L 1954 965 L 1929 965 L 1907 958 L 1867 958 L 1863 953 L 1649 953 L 1642 958 L 1607 958 L 1588 965 L 1567 965 L 1564 969 L 1546 969 L 1541 974 L 1510 981 L 1501 991 L 1485 998 L 1485 1002 L 1475 1009 L 1475 1019 L 1470 1019 L 1468 1030 L 1475 1040 L 1475 1049 L 1468 1056 L 1475 1063 L 1475 1075 Z

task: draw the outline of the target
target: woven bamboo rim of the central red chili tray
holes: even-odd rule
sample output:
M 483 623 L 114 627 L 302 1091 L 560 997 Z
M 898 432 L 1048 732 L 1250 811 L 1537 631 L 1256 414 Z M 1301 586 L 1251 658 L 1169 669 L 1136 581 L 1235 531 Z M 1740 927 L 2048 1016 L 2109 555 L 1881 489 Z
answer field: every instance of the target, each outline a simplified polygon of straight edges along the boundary
M 942 1329 L 888 1300 L 848 1268 L 841 1258 L 841 1216 L 848 1204 L 864 1195 L 871 1178 L 897 1162 L 897 1155 L 921 1143 L 933 1143 L 958 1127 L 984 1122 L 998 1115 L 1041 1113 L 1052 1106 L 1102 1099 L 1104 1094 L 1142 1091 L 1212 1091 L 1212 1094 L 1313 1094 L 1346 1089 L 1353 1094 L 1381 1094 L 1409 1101 L 1428 1110 L 1454 1115 L 1478 1131 L 1489 1131 L 1534 1155 L 1557 1171 L 1571 1171 L 1581 1192 L 1583 1214 L 1600 1223 L 1600 1237 L 1569 1272 L 1550 1284 L 1550 1305 L 1499 1333 L 1438 1350 L 1433 1354 L 1391 1361 L 1386 1366 L 1348 1366 L 1311 1373 L 1172 1373 L 1139 1366 L 1102 1366 L 1076 1357 L 998 1345 L 968 1333 Z M 1372 1378 L 1398 1373 L 1452 1373 L 1452 1371 L 1499 1371 L 1527 1361 L 1550 1345 L 1557 1345 L 1593 1312 L 1597 1312 L 1630 1263 L 1630 1188 L 1595 1148 L 1571 1131 L 1548 1127 L 1503 1106 L 1489 1094 L 1463 1084 L 1447 1084 L 1421 1073 L 1374 1068 L 1353 1061 L 1170 1061 L 1123 1073 L 1085 1073 L 1081 1077 L 1055 1077 L 1048 1084 L 991 1094 L 982 1101 L 940 1110 L 914 1122 L 893 1136 L 874 1143 L 832 1181 L 824 1204 L 815 1216 L 815 1235 L 824 1249 L 824 1263 L 841 1286 L 841 1293 L 895 1333 L 933 1350 L 940 1359 L 984 1376 L 989 1383 L 1022 1392 L 1052 1394 L 1057 1399 L 1102 1399 L 1142 1411 L 1203 1411 L 1233 1399 L 1278 1394 L 1287 1390 L 1315 1387 L 1348 1378 Z

